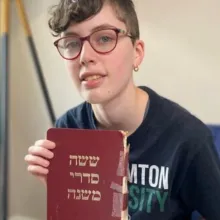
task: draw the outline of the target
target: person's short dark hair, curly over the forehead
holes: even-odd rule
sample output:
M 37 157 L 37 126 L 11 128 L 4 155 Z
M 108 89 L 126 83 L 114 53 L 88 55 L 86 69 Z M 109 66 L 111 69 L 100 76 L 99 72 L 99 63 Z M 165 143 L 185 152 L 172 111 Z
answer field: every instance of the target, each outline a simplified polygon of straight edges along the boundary
M 70 24 L 82 22 L 99 13 L 104 4 L 112 6 L 133 39 L 139 39 L 139 23 L 132 0 L 60 0 L 50 9 L 49 28 L 59 36 Z

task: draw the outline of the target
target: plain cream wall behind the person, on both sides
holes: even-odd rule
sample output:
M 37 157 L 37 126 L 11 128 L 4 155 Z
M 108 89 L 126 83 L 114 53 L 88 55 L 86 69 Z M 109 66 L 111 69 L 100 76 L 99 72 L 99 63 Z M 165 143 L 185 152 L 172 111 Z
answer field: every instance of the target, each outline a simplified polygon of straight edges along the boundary
M 14 1 L 11 20 L 10 215 L 46 219 L 45 189 L 26 172 L 28 147 L 44 138 L 50 121 Z M 56 115 L 81 102 L 52 45 L 47 9 L 54 0 L 25 0 Z M 138 84 L 145 84 L 196 114 L 220 123 L 220 1 L 136 0 L 146 58 Z M 56 78 L 56 81 L 55 81 Z

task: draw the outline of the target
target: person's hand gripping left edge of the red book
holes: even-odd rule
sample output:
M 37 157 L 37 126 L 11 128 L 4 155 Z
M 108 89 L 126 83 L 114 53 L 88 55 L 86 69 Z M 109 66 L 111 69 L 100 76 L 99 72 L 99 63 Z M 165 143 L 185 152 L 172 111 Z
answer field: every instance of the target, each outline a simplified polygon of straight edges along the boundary
M 24 160 L 28 163 L 27 170 L 29 173 L 37 177 L 45 185 L 47 183 L 48 167 L 50 159 L 54 154 L 51 151 L 55 148 L 55 143 L 48 140 L 38 140 L 28 149 L 28 154 Z

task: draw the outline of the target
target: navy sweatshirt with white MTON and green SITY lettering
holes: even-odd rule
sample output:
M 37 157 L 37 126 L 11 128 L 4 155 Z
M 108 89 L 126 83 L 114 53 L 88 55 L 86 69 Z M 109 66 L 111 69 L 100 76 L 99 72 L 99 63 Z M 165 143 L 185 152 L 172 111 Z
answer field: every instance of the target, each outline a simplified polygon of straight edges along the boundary
M 197 210 L 220 220 L 220 159 L 210 130 L 177 103 L 140 88 L 150 105 L 128 137 L 130 219 L 186 220 Z M 56 127 L 97 129 L 91 105 L 68 110 Z

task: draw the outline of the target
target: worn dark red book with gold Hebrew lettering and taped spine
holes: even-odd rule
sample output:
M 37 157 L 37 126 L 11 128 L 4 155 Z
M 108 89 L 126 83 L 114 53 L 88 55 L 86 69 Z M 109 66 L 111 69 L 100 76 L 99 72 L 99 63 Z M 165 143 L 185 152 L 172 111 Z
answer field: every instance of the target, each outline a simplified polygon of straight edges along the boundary
M 128 151 L 122 131 L 51 128 L 47 220 L 127 220 Z

